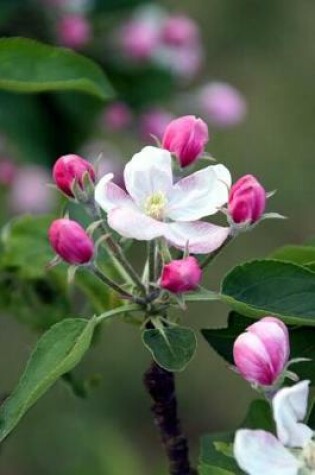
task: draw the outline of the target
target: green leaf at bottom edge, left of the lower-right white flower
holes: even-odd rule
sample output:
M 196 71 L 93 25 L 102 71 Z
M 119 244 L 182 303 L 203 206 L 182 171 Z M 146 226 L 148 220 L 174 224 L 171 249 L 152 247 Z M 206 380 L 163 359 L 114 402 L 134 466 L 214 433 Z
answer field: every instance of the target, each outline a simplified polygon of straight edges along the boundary
M 243 472 L 232 455 L 232 432 L 204 435 L 201 438 L 200 475 L 239 475 Z

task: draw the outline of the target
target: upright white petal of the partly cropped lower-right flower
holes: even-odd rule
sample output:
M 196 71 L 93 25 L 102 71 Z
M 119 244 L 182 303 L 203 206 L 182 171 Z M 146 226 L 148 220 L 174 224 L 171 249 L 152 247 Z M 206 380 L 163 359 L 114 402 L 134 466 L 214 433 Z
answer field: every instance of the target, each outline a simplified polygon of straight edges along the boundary
M 313 431 L 302 421 L 306 416 L 309 381 L 301 381 L 277 392 L 272 400 L 279 440 L 287 447 L 304 447 Z

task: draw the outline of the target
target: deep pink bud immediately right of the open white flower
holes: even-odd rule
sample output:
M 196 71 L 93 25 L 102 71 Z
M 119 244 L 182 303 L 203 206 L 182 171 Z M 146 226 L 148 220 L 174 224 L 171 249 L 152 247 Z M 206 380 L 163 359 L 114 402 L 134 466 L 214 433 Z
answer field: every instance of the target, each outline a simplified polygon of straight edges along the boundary
M 256 223 L 266 207 L 266 191 L 252 175 L 240 178 L 231 188 L 228 209 L 234 223 Z

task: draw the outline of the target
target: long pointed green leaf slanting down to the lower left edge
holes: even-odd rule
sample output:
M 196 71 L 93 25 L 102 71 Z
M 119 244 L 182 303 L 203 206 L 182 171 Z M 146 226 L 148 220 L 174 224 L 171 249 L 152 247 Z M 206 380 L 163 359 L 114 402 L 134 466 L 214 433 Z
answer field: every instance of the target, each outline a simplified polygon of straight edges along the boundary
M 74 368 L 88 350 L 95 319 L 66 319 L 38 341 L 17 387 L 0 408 L 0 441 L 63 374 Z

